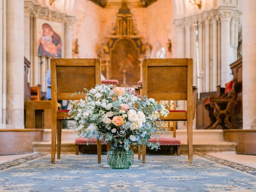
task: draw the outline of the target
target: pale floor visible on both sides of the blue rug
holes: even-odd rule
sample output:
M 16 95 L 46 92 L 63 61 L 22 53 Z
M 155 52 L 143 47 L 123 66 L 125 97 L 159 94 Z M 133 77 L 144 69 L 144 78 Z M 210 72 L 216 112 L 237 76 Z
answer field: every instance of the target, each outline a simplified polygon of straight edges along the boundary
M 35 153 L 28 153 L 28 154 L 16 154 L 16 155 L 1 155 L 0 156 L 0 164 L 6 163 L 18 158 L 27 157 L 30 155 L 36 154 Z M 250 166 L 256 168 L 256 155 L 242 155 L 236 154 L 235 152 L 215 152 L 215 153 L 208 153 L 210 156 L 214 156 L 217 158 L 221 158 L 224 160 L 232 161 L 235 163 L 239 163 L 245 166 Z

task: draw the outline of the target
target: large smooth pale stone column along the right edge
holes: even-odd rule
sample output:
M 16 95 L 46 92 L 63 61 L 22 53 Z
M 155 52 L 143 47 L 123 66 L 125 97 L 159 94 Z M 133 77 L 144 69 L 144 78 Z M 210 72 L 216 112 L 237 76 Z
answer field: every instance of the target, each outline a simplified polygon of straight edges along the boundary
M 256 129 L 256 1 L 244 0 L 243 40 L 243 129 Z

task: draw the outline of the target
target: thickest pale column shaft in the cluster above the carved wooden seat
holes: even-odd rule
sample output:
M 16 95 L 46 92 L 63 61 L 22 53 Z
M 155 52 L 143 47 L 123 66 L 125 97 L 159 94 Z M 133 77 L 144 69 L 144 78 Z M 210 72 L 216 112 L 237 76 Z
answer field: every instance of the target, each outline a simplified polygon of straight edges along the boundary
M 230 78 L 230 13 L 221 12 L 221 83 L 222 87 L 231 80 Z

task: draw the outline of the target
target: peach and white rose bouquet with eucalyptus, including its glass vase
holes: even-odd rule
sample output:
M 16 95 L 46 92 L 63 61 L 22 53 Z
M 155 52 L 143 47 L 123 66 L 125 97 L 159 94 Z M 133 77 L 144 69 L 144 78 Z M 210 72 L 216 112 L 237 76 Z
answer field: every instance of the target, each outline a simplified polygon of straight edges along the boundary
M 86 90 L 86 89 L 85 89 Z M 77 108 L 71 108 L 69 115 L 76 123 L 68 128 L 84 138 L 104 140 L 111 144 L 108 164 L 112 168 L 129 168 L 133 162 L 130 145 L 138 144 L 158 150 L 158 132 L 164 132 L 160 116 L 169 113 L 165 106 L 153 98 L 138 96 L 130 87 L 121 88 L 97 85 L 86 90 L 85 100 Z M 149 142 L 154 136 L 156 142 Z

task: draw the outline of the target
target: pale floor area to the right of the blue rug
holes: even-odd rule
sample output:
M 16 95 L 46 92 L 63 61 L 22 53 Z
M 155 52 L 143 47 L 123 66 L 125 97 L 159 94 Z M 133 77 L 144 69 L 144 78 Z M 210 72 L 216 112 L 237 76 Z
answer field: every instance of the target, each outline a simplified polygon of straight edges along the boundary
M 256 155 L 236 154 L 234 151 L 208 153 L 208 155 L 256 168 Z

